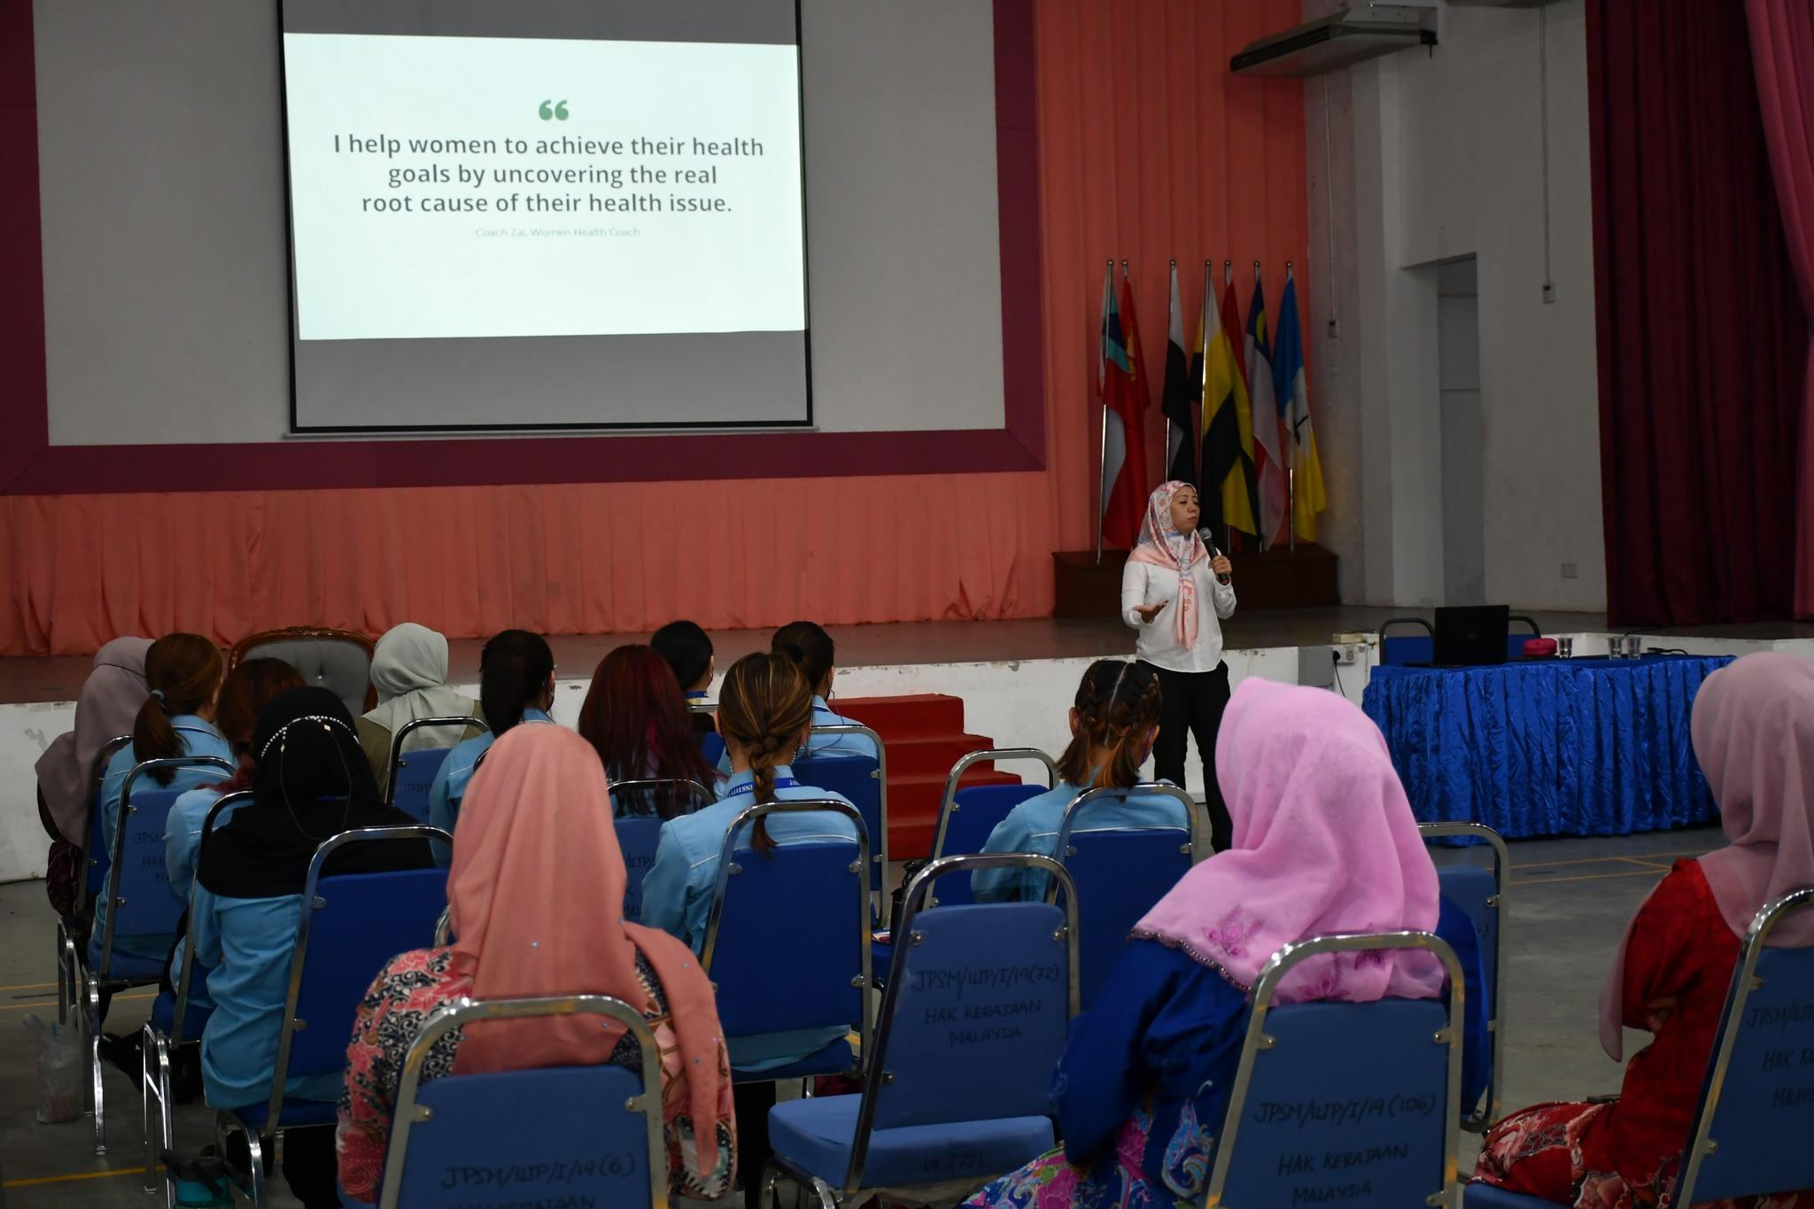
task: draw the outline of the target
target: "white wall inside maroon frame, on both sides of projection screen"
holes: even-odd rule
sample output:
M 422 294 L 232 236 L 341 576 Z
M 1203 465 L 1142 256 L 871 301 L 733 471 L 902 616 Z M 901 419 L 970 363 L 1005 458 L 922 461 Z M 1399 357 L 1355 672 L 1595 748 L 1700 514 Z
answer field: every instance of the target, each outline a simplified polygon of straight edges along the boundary
M 992 20 L 802 0 L 824 431 L 1003 422 Z M 33 33 L 51 444 L 285 439 L 278 5 L 34 0 Z

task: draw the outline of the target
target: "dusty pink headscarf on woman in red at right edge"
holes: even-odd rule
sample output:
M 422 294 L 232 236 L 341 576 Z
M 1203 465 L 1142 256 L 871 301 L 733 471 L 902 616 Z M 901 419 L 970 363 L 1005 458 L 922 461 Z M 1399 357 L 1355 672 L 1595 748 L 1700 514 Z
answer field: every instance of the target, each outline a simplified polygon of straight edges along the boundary
M 1727 837 L 1725 848 L 1700 857 L 1702 875 L 1725 926 L 1743 937 L 1765 903 L 1814 886 L 1814 663 L 1747 654 L 1721 667 L 1694 696 L 1691 732 Z M 1785 919 L 1770 944 L 1814 944 L 1810 915 Z M 1629 941 L 1631 924 L 1600 991 L 1600 1046 L 1614 1060 L 1624 1053 Z

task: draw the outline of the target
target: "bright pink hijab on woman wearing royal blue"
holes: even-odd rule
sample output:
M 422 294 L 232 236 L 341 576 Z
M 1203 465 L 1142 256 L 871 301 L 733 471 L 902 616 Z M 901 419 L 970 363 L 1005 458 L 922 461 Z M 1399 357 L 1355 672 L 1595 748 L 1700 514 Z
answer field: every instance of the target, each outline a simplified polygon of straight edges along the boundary
M 1437 868 L 1386 740 L 1324 689 L 1241 682 L 1215 741 L 1234 846 L 1203 861 L 1134 928 L 1248 990 L 1292 941 L 1437 926 Z M 1429 999 L 1442 962 L 1415 950 L 1301 962 L 1279 999 Z

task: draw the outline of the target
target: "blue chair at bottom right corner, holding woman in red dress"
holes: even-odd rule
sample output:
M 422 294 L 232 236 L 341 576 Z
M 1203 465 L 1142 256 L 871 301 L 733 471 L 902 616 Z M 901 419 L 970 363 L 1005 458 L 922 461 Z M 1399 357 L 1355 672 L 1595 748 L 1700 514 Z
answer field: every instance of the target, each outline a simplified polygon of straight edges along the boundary
M 1767 1196 L 1814 1187 L 1814 1093 L 1803 1057 L 1814 1053 L 1814 948 L 1767 948 L 1814 888 L 1769 903 L 1745 930 L 1732 966 L 1707 1077 L 1682 1149 L 1671 1205 Z M 1468 1209 L 1555 1209 L 1547 1200 L 1469 1184 Z

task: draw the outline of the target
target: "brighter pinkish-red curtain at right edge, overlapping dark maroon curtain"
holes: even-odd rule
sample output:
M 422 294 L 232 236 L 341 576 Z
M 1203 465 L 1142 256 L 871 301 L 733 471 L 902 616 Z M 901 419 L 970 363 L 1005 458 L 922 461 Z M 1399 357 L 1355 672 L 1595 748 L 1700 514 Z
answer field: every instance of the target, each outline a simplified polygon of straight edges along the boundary
M 1745 16 L 1789 261 L 1814 323 L 1814 7 L 1807 0 L 1745 0 Z M 1814 343 L 1801 382 L 1799 455 L 1796 616 L 1814 616 Z

